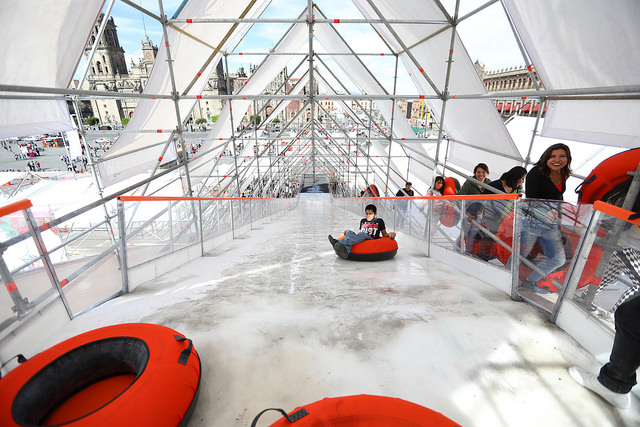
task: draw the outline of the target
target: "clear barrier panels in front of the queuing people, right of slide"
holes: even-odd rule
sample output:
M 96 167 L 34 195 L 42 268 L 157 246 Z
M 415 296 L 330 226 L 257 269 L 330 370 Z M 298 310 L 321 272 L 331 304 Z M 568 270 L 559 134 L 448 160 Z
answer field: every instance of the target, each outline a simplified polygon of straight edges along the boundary
M 427 254 L 435 245 L 510 271 L 515 295 L 550 314 L 557 312 L 566 292 L 572 262 L 592 215 L 591 205 L 520 200 L 513 195 L 334 201 L 357 215 L 363 215 L 367 204 L 376 205 L 389 231 L 424 240 Z M 590 261 L 580 270 L 580 292 L 599 284 L 597 260 L 602 252 L 596 242 L 585 255 Z M 518 268 L 512 269 L 512 263 Z

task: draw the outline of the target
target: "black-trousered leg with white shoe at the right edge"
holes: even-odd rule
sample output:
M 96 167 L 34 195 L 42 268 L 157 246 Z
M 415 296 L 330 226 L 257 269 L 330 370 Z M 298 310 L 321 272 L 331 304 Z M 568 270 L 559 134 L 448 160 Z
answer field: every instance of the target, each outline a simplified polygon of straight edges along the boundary
M 615 313 L 615 323 L 609 363 L 600 369 L 600 374 L 596 377 L 572 366 L 569 375 L 613 406 L 626 409 L 631 403 L 629 392 L 636 385 L 636 371 L 640 368 L 640 298 L 621 304 Z

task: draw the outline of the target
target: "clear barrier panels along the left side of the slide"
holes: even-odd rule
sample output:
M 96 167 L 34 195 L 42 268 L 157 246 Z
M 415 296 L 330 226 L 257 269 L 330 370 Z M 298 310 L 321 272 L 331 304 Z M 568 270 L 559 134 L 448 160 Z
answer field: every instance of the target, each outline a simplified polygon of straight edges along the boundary
M 96 202 L 60 218 L 39 208 L 34 215 L 28 200 L 16 203 L 20 206 L 14 210 L 13 205 L 0 208 L 0 272 L 5 282 L 0 331 L 56 298 L 72 318 L 119 295 L 124 289 L 123 248 L 128 268 L 135 267 L 239 227 L 267 222 L 297 203 L 294 198 L 129 199 L 121 212 L 115 203 Z M 124 246 L 121 229 L 126 230 Z

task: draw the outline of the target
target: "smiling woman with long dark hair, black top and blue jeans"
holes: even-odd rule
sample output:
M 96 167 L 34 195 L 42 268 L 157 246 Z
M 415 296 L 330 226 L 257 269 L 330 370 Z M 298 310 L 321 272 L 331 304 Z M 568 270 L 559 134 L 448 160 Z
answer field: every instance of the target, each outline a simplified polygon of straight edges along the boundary
M 570 175 L 571 151 L 562 143 L 547 148 L 527 174 L 525 181 L 527 201 L 523 209 L 520 256 L 529 255 L 535 243 L 538 242 L 545 259 L 537 266 L 543 274 L 532 271 L 520 284 L 522 289 L 548 294 L 549 290 L 539 287 L 538 281 L 566 261 L 558 221 L 566 182 Z

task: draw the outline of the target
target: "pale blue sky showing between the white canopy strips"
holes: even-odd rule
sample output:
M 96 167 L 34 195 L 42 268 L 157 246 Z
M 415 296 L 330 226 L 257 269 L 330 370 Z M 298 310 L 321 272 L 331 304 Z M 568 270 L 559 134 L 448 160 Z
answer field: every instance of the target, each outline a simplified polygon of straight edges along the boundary
M 157 1 L 132 1 L 159 15 Z M 165 14 L 171 18 L 181 3 L 182 0 L 165 0 L 163 2 Z M 461 0 L 460 15 L 465 15 L 483 3 L 481 0 Z M 362 18 L 357 8 L 349 1 L 316 0 L 315 4 L 331 19 Z M 443 0 L 443 4 L 453 14 L 455 0 Z M 305 10 L 306 5 L 307 0 L 272 0 L 262 17 L 296 18 Z M 143 15 L 142 12 L 120 1 L 115 2 L 111 16 L 113 16 L 117 26 L 118 38 L 120 45 L 125 50 L 128 66 L 132 59 L 135 62 L 140 60 L 142 56 L 141 43 L 146 37 L 149 37 L 154 45 L 161 45 L 162 27 L 153 18 Z M 235 49 L 235 52 L 243 52 L 243 55 L 230 55 L 228 57 L 230 71 L 235 72 L 240 66 L 248 69 L 251 65 L 259 64 L 263 56 L 247 55 L 246 52 L 266 52 L 274 47 L 288 26 L 289 24 L 255 24 Z M 341 34 L 356 52 L 388 53 L 388 49 L 380 41 L 379 37 L 375 35 L 370 26 L 365 24 L 340 24 L 338 27 Z M 482 37 L 477 36 L 479 31 L 482 32 Z M 460 23 L 458 32 L 471 59 L 473 61 L 479 60 L 487 70 L 498 70 L 524 64 L 500 2 L 492 4 L 477 15 Z M 318 46 L 317 49 L 322 51 L 321 46 Z M 292 57 L 289 69 L 293 69 L 300 59 L 300 57 Z M 394 57 L 389 55 L 384 57 L 365 56 L 363 57 L 363 62 L 371 69 L 376 70 L 376 75 L 382 85 L 388 88 L 389 92 L 392 92 L 395 70 Z M 346 75 L 341 73 L 338 67 L 333 67 L 334 63 L 331 60 L 328 60 L 327 64 L 336 72 L 350 91 L 355 90 Z M 84 66 L 85 63 L 82 61 L 79 71 Z M 324 76 L 330 80 L 332 86 L 337 87 L 335 85 L 338 85 L 338 83 L 328 73 L 324 73 Z M 401 62 L 396 84 L 396 93 L 398 94 L 417 93 Z

